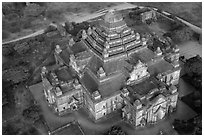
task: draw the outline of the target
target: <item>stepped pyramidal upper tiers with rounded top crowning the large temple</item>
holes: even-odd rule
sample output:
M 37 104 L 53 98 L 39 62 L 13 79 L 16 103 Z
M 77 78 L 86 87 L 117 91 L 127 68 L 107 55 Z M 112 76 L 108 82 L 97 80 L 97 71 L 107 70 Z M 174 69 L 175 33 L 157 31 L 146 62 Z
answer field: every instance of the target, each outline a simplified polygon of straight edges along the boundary
M 122 15 L 109 11 L 96 27 L 82 33 L 83 42 L 103 62 L 127 58 L 145 46 L 139 33 L 135 33 Z

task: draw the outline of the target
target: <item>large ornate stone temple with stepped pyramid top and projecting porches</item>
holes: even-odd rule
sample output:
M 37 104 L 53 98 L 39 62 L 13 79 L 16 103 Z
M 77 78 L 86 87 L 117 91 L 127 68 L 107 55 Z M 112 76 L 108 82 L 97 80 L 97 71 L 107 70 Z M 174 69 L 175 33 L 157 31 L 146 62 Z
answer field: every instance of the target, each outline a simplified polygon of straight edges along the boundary
M 74 109 L 83 106 L 97 122 L 122 110 L 125 121 L 140 127 L 155 123 L 176 109 L 175 85 L 181 70 L 178 47 L 149 48 L 147 40 L 128 27 L 120 13 L 109 11 L 95 25 L 82 30 L 79 42 L 70 39 L 68 46 L 62 47 L 56 46 L 56 63 L 70 68 L 77 77 L 71 83 L 64 81 L 72 88 L 63 88 L 61 84 L 53 86 L 46 80 L 49 72 L 42 72 L 45 96 L 56 111 L 73 110 L 72 104 Z M 66 92 L 59 92 L 60 89 Z M 74 100 L 71 105 L 70 100 Z

